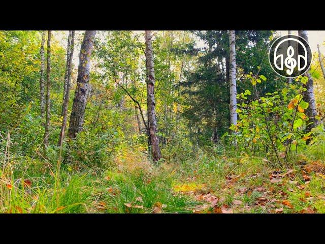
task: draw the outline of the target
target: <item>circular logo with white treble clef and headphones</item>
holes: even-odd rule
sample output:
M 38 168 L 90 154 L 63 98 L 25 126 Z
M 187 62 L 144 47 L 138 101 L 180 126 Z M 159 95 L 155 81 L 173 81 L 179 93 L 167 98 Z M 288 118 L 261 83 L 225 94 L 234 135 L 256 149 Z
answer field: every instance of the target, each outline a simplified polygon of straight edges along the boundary
M 276 39 L 269 50 L 269 62 L 278 75 L 296 78 L 305 74 L 312 60 L 308 42 L 299 36 L 287 35 Z

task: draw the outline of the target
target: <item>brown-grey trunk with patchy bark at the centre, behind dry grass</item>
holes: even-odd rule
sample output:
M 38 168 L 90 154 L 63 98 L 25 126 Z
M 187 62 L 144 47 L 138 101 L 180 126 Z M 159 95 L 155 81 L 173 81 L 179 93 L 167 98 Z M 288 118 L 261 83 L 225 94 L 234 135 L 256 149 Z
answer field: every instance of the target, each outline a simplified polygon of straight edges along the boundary
M 152 55 L 152 34 L 151 31 L 145 31 L 146 40 L 146 68 L 147 68 L 147 108 L 148 108 L 148 124 L 150 132 L 150 142 L 153 155 L 153 161 L 158 161 L 161 158 L 159 139 L 156 135 L 157 123 L 155 114 L 154 100 L 154 68 Z

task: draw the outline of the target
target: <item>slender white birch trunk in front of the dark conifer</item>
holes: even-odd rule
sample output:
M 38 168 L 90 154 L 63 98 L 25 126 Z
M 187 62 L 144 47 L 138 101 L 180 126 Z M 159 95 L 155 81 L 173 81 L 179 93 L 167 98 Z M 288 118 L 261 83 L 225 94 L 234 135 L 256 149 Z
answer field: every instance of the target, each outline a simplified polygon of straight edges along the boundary
M 230 43 L 230 123 L 237 125 L 237 88 L 236 88 L 236 40 L 235 31 L 229 32 Z

